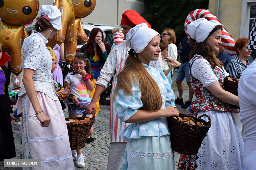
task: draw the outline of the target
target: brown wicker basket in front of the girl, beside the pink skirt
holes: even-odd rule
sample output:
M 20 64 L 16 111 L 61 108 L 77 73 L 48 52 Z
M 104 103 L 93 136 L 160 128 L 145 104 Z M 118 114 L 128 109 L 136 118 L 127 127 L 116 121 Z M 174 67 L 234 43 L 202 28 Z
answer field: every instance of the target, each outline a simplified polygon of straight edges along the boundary
M 86 139 L 95 121 L 94 113 L 92 114 L 93 117 L 90 118 L 90 122 L 67 123 L 71 150 L 82 149 L 85 147 Z M 86 118 L 85 116 L 86 114 L 84 114 L 82 117 L 67 117 L 65 119 L 83 120 Z

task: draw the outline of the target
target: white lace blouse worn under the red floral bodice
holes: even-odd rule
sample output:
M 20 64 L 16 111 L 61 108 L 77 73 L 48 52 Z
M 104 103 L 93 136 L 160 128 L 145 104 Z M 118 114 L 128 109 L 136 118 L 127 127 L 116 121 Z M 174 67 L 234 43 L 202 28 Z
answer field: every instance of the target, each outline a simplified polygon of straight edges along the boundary
M 194 57 L 190 60 L 190 62 L 194 59 Z M 206 59 L 196 59 L 193 62 L 192 66 L 190 67 L 191 67 L 190 74 L 194 78 L 198 79 L 206 88 L 219 80 L 212 70 L 215 68 L 212 68 L 210 63 Z M 221 68 L 219 69 L 222 70 Z M 224 75 L 228 76 L 229 74 L 226 72 L 226 70 L 224 68 L 223 70 L 225 73 Z

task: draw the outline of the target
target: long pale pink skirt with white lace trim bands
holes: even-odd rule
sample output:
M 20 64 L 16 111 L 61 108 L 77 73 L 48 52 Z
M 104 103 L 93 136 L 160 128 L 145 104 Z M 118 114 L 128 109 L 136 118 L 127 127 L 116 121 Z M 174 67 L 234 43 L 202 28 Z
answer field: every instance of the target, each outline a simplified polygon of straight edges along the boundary
M 27 94 L 19 97 L 18 112 L 22 105 L 23 115 L 23 159 L 40 159 L 41 167 L 33 169 L 74 169 L 67 125 L 59 100 L 39 91 L 36 94 L 42 111 L 51 121 L 48 127 L 41 127 Z

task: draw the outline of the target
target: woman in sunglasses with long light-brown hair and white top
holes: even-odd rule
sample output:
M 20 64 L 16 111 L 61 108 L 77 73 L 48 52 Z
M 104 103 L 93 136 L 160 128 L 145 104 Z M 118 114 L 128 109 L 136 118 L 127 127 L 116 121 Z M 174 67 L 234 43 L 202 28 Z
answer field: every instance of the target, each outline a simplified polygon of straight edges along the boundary
M 171 28 L 165 28 L 162 32 L 162 40 L 166 44 L 168 44 L 168 57 L 171 59 L 177 59 L 178 52 L 177 52 L 177 47 L 175 45 L 176 43 L 176 36 L 175 32 Z

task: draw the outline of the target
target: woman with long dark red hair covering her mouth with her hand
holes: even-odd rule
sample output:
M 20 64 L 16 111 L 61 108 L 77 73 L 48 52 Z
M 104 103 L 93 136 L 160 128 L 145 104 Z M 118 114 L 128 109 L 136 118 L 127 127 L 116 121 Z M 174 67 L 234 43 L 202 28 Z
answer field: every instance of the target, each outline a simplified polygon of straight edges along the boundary
M 103 32 L 99 28 L 93 28 L 89 35 L 89 40 L 84 48 L 81 48 L 80 52 L 85 53 L 87 59 L 91 62 L 91 68 L 93 70 L 93 82 L 94 86 L 96 81 L 98 80 L 101 68 L 106 62 L 108 57 L 107 51 L 104 45 L 104 36 Z M 95 89 L 91 92 L 89 91 L 89 97 L 92 98 Z M 95 113 L 95 117 L 99 111 L 99 98 L 97 100 L 97 109 Z M 88 139 L 87 139 L 88 140 Z M 90 141 L 90 140 L 89 140 Z

